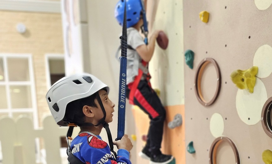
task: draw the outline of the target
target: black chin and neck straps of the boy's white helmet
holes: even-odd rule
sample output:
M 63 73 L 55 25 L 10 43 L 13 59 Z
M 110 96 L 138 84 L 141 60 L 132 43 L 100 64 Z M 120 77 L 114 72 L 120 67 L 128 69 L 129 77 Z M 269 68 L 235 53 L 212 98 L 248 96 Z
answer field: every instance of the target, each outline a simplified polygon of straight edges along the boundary
M 99 93 L 96 92 L 96 99 L 98 101 L 98 104 L 100 105 L 101 109 L 102 109 L 102 112 L 104 114 L 103 118 L 96 124 L 96 125 L 93 125 L 92 123 L 83 123 L 83 124 L 78 124 L 78 126 L 98 126 L 98 125 L 103 125 L 103 127 L 106 129 L 106 132 L 107 132 L 107 135 L 108 135 L 108 142 L 109 142 L 109 147 L 110 147 L 110 151 L 113 153 L 115 159 L 117 158 L 117 154 L 116 152 L 113 150 L 113 140 L 112 140 L 112 135 L 111 135 L 111 132 L 109 130 L 109 126 L 108 126 L 108 123 L 105 122 L 105 118 L 106 118 L 106 110 L 103 106 L 103 103 L 101 101 L 101 98 L 99 96 Z M 67 150 L 67 155 L 69 155 L 69 153 L 72 151 L 71 150 L 71 147 L 70 147 L 70 144 L 69 144 L 69 140 L 71 140 L 71 136 L 72 136 L 72 133 L 73 133 L 73 128 L 76 127 L 77 125 L 76 124 L 69 124 L 69 129 L 68 129 L 68 132 L 67 132 L 67 137 L 66 137 L 66 140 L 67 140 L 67 144 L 68 144 L 68 150 Z

